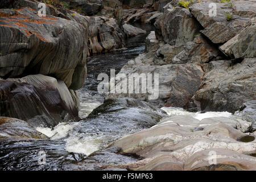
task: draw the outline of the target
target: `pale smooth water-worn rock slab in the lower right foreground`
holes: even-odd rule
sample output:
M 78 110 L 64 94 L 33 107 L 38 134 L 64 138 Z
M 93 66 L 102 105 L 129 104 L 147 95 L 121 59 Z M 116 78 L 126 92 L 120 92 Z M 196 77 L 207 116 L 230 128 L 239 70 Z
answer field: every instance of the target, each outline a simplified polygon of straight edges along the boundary
M 254 169 L 256 160 L 245 154 L 256 151 L 255 136 L 245 135 L 236 129 L 243 125 L 248 127 L 247 122 L 227 117 L 207 118 L 207 113 L 203 115 L 195 113 L 164 118 L 150 129 L 110 143 L 109 147 L 121 148 L 121 154 L 135 154 L 144 158 L 118 167 L 133 170 L 192 170 L 206 166 L 217 169 L 229 163 L 235 169 Z M 241 142 L 240 139 L 245 137 L 250 140 Z M 210 166 L 211 155 L 217 158 L 215 166 Z M 248 168 L 239 164 L 246 164 Z

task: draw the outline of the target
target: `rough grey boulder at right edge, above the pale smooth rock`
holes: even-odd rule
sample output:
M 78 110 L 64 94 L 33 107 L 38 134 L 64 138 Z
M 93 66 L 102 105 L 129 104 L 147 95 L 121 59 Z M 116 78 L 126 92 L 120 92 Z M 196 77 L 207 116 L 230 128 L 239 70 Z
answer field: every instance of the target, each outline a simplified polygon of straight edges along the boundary
M 201 110 L 234 112 L 247 101 L 255 100 L 255 58 L 235 65 L 232 61 L 213 61 L 196 93 Z

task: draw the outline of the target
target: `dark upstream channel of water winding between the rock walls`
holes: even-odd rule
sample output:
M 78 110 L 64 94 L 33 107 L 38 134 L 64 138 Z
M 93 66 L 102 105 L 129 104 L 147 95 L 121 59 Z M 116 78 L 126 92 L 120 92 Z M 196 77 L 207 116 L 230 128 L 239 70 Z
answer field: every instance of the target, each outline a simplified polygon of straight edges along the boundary
M 88 57 L 88 75 L 84 86 L 79 90 L 81 118 L 85 118 L 95 107 L 101 105 L 104 101 L 104 96 L 97 92 L 97 86 L 101 82 L 101 80 L 97 80 L 98 75 L 100 73 L 106 73 L 110 76 L 110 69 L 115 69 L 115 74 L 117 74 L 127 61 L 134 59 L 144 52 L 146 36 L 154 27 L 149 24 L 135 24 L 135 26 L 141 27 L 147 33 L 127 40 L 126 50 L 111 51 Z

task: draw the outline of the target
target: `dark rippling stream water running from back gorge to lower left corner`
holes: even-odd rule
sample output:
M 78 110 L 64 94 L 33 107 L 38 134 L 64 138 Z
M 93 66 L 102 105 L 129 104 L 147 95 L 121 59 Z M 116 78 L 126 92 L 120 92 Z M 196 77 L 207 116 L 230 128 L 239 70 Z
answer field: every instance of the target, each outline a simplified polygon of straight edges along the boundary
M 151 30 L 150 26 L 142 26 L 142 28 L 148 33 Z M 113 51 L 88 58 L 88 76 L 85 85 L 79 90 L 82 118 L 87 117 L 95 107 L 104 101 L 104 96 L 97 93 L 97 85 L 100 82 L 97 81 L 98 74 L 109 74 L 110 69 L 115 69 L 118 72 L 127 61 L 143 53 L 147 34 L 129 39 L 126 44 L 127 49 L 124 51 Z M 65 123 L 56 127 L 57 137 L 53 135 L 51 140 L 0 139 L 0 170 L 98 169 L 99 163 L 106 160 L 106 157 L 103 157 L 106 154 L 108 154 L 108 163 L 135 161 L 136 159 L 132 157 L 108 151 L 110 149 L 99 151 L 101 155 L 92 155 L 86 158 L 86 154 L 100 150 L 110 141 L 150 127 L 159 120 L 156 113 L 151 114 L 154 112 L 151 108 L 135 109 L 127 105 L 123 106 L 123 103 L 115 104 L 113 107 L 120 108 L 118 111 L 99 113 L 100 117 L 92 115 L 79 123 Z M 144 117 L 148 117 L 151 122 L 142 123 Z M 52 133 L 53 131 L 47 132 Z M 60 136 L 58 137 L 58 135 Z M 38 163 L 40 151 L 46 153 L 45 164 Z M 105 161 L 105 163 L 107 162 Z

